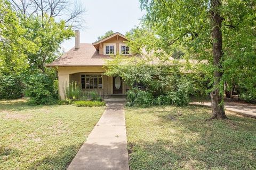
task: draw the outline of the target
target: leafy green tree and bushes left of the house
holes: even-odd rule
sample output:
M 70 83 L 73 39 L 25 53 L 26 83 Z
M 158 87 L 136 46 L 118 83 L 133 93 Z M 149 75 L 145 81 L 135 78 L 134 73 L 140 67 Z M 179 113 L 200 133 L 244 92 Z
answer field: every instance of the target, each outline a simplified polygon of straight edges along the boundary
M 1 75 L 9 76 L 9 81 L 5 79 L 7 82 L 5 81 L 5 87 L 2 87 L 6 89 L 17 84 L 17 87 L 12 87 L 13 90 L 8 89 L 2 95 L 5 95 L 5 98 L 7 94 L 10 94 L 9 98 L 14 98 L 14 95 L 20 96 L 18 93 L 22 93 L 22 90 L 18 92 L 18 88 L 22 86 L 18 84 L 26 77 L 26 91 L 31 96 L 30 103 L 55 103 L 58 92 L 53 90 L 56 88 L 50 83 L 54 83 L 56 76 L 49 75 L 54 75 L 56 71 L 46 69 L 45 64 L 60 56 L 60 44 L 74 36 L 73 30 L 70 26 L 67 27 L 63 20 L 56 22 L 53 17 L 46 14 L 40 17 L 16 13 L 5 0 L 0 0 L 0 4 L 0 72 Z M 38 72 L 45 74 L 41 75 L 42 81 L 38 78 L 41 77 Z M 12 75 L 20 76 L 22 79 L 16 81 L 11 78 Z M 40 85 L 36 81 L 43 84 Z

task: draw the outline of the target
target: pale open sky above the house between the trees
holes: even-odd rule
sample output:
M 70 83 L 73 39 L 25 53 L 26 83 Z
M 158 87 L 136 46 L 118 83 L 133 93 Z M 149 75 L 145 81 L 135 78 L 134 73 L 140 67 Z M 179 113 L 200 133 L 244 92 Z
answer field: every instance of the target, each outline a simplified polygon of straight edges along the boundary
M 139 0 L 81 0 L 85 6 L 84 30 L 80 31 L 81 43 L 93 43 L 108 30 L 125 34 L 140 23 L 145 12 L 140 10 Z M 61 44 L 68 51 L 75 46 L 75 38 Z

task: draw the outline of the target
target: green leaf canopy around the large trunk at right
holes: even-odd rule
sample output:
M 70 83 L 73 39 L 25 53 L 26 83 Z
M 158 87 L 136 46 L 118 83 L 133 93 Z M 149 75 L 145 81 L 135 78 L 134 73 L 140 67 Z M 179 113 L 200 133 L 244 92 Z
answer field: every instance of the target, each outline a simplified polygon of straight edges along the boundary
M 239 86 L 245 87 L 247 94 L 255 94 L 255 1 L 220 2 L 219 7 L 212 9 L 213 1 L 140 0 L 141 9 L 146 10 L 142 27 L 150 30 L 150 33 L 157 37 L 157 41 L 146 42 L 146 37 L 149 36 L 141 34 L 142 38 L 138 36 L 135 42 L 146 42 L 148 51 L 158 48 L 167 54 L 172 54 L 172 48 L 177 44 L 186 47 L 193 58 L 208 61 L 204 70 L 208 72 L 207 76 L 212 82 L 216 80 L 214 70 L 221 72 L 221 80 L 217 85 L 220 94 L 223 94 L 224 83 L 229 91 L 234 86 Z M 212 44 L 217 40 L 213 39 L 211 34 L 211 11 L 219 13 L 222 19 L 223 56 L 217 66 L 213 63 Z

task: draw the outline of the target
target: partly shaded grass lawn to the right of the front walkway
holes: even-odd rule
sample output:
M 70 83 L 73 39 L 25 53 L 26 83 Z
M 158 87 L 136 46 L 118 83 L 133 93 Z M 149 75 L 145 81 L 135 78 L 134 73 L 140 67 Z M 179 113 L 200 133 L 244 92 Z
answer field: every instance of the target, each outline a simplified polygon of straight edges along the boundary
M 256 119 L 204 107 L 125 108 L 130 169 L 256 169 Z

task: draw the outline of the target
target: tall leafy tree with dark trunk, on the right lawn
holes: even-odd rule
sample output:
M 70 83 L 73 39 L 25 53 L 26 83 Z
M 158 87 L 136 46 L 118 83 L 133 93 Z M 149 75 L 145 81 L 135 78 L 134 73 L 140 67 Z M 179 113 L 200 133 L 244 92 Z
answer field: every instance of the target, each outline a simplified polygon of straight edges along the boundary
M 254 79 L 245 73 L 255 71 L 255 44 L 252 44 L 256 40 L 255 1 L 140 0 L 140 3 L 141 9 L 147 11 L 143 25 L 163 42 L 161 49 L 168 52 L 170 46 L 178 43 L 190 47 L 198 59 L 209 61 L 206 71 L 212 72 L 212 119 L 226 119 L 223 84 L 231 76 L 230 70 L 239 65 L 246 79 Z

